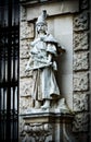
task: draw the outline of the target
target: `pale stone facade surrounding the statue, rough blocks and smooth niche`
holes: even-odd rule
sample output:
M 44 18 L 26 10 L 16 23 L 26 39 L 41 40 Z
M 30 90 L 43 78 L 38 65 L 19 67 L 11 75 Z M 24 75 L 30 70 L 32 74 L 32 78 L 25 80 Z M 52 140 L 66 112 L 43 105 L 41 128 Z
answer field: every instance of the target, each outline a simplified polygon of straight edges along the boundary
M 49 13 L 49 31 L 56 36 L 56 38 L 63 46 L 65 45 L 66 55 L 70 54 L 69 56 L 72 56 L 70 58 L 69 56 L 67 57 L 66 55 L 64 55 L 61 58 L 62 63 L 60 64 L 61 72 L 58 76 L 58 84 L 61 86 L 62 94 L 67 99 L 67 104 L 70 106 L 70 109 L 76 114 L 73 123 L 73 132 L 76 134 L 78 142 L 80 140 L 83 142 L 89 142 L 88 138 L 90 133 L 90 27 L 88 2 L 88 0 L 82 0 L 80 1 L 80 3 L 78 3 L 75 0 L 74 3 L 72 0 L 69 0 L 68 3 L 67 0 L 65 0 L 61 2 L 61 5 L 56 2 L 56 7 L 54 7 L 54 3 L 50 3 L 49 7 L 47 4 L 39 4 L 38 12 L 35 12 L 34 8 L 29 8 L 29 5 L 27 4 L 26 7 L 24 4 L 21 5 L 20 114 L 24 114 L 27 108 L 30 108 L 34 105 L 34 102 L 30 97 L 30 90 L 32 87 L 32 75 L 31 72 L 25 72 L 25 67 L 29 58 L 30 42 L 35 38 L 35 21 L 39 15 L 41 9 L 47 9 Z M 74 5 L 75 9 L 73 9 Z M 34 7 L 36 9 L 37 5 Z M 30 15 L 31 12 L 32 14 Z M 61 31 L 58 33 L 58 23 L 61 22 L 62 26 L 62 23 L 64 23 L 64 20 L 62 21 L 62 19 L 65 19 L 67 16 L 69 19 L 73 17 L 73 40 L 70 40 L 73 44 L 70 44 L 68 48 L 66 48 L 67 45 L 64 44 L 64 33 L 66 35 L 65 37 L 67 37 L 66 39 L 69 40 L 70 35 L 68 35 L 67 33 L 69 31 L 66 31 L 66 28 L 69 27 L 65 26 L 66 28 L 64 28 L 64 32 Z M 65 22 L 67 21 L 68 20 L 65 19 Z M 55 27 L 56 25 L 57 28 Z M 73 49 L 70 49 L 70 51 L 68 52 L 70 47 L 73 47 Z M 67 62 L 68 60 L 73 61 Z M 67 63 L 69 64 L 69 67 L 73 63 L 70 67 L 72 71 L 68 70 L 68 68 L 65 68 L 66 66 L 68 67 Z M 67 94 L 67 88 L 69 96 Z M 81 132 L 84 137 L 81 137 Z

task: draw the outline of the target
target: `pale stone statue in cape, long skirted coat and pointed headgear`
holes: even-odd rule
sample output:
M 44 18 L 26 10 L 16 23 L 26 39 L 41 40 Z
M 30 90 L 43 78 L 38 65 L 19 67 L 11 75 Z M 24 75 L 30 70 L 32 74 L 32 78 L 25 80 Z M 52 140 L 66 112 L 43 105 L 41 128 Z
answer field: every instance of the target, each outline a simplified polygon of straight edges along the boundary
M 32 99 L 35 107 L 50 108 L 51 99 L 60 98 L 60 90 L 54 72 L 57 70 L 56 58 L 61 47 L 56 39 L 48 34 L 47 12 L 42 11 L 36 22 L 37 36 L 31 43 L 30 59 L 26 70 L 32 71 Z

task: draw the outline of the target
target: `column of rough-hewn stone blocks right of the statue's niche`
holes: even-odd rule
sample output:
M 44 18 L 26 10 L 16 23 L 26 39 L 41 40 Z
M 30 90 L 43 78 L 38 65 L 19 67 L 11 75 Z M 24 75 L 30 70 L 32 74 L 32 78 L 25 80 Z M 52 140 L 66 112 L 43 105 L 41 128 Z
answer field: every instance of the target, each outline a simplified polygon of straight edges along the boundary
M 74 132 L 78 141 L 89 141 L 90 125 L 90 28 L 89 28 L 89 3 L 88 0 L 80 1 L 79 13 L 74 16 Z M 82 134 L 81 134 L 82 133 Z

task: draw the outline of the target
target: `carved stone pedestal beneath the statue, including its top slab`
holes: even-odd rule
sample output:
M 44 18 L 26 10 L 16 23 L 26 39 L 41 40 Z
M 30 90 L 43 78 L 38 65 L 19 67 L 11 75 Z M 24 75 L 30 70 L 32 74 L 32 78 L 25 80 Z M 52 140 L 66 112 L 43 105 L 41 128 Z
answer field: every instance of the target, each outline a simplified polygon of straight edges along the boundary
M 72 132 L 72 114 L 36 109 L 22 117 L 25 133 L 23 142 L 76 142 Z

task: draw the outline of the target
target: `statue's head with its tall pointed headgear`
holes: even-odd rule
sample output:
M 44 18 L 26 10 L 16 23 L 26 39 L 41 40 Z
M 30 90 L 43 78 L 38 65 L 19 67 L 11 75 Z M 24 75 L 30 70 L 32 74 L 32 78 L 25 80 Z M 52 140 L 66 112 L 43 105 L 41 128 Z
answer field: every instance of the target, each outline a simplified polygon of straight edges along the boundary
M 47 33 L 47 11 L 43 10 L 41 15 L 38 16 L 36 22 L 36 28 L 38 33 Z

